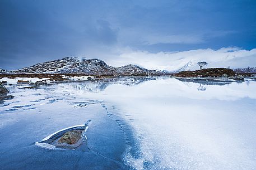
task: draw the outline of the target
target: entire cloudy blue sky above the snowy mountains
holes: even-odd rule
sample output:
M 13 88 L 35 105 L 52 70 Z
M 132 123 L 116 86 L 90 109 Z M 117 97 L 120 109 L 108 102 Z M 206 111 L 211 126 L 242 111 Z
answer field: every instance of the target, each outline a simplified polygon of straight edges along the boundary
M 256 66 L 255 9 L 254 0 L 0 0 L 0 68 L 67 56 L 159 70 Z

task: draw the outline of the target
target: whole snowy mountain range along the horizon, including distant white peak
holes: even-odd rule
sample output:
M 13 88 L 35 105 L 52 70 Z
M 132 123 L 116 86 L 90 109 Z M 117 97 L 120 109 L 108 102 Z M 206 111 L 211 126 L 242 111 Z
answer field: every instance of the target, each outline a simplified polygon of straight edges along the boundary
M 14 71 L 0 68 L 0 74 L 87 74 L 87 75 L 166 75 L 181 71 L 198 70 L 196 62 L 188 61 L 175 71 L 148 70 L 137 65 L 112 67 L 99 59 L 86 59 L 83 57 L 65 57 L 63 59 L 42 62 Z M 233 69 L 235 72 L 256 73 L 256 67 Z

